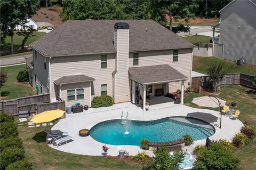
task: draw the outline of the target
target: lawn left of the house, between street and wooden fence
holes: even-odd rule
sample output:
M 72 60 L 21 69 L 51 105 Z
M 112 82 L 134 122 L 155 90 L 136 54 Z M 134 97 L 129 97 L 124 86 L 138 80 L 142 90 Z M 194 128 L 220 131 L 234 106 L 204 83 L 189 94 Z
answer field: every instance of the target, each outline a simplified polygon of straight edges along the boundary
M 21 98 L 24 96 L 35 95 L 36 92 L 28 83 L 18 83 L 17 75 L 20 70 L 26 69 L 26 64 L 10 67 L 2 67 L 1 70 L 7 72 L 7 81 L 1 88 L 1 100 Z

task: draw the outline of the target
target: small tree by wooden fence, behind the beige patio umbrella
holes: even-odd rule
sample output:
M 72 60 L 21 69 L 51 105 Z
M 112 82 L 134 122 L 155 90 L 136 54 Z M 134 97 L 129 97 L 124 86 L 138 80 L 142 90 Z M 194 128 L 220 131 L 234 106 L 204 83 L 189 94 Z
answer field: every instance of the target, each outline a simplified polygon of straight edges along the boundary
M 209 81 L 210 83 L 212 83 L 215 92 L 217 91 L 218 88 L 217 84 L 224 79 L 227 73 L 227 70 L 223 68 L 223 65 L 224 62 L 214 62 L 207 69 L 207 74 L 209 74 Z

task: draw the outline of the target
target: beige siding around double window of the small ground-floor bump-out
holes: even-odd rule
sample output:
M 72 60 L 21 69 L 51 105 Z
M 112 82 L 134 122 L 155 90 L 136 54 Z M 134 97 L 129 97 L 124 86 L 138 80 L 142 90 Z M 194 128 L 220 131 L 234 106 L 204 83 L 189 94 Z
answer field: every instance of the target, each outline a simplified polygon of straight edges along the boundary
M 77 88 L 83 88 L 84 89 L 84 99 L 79 100 L 73 100 L 68 101 L 67 99 L 67 91 L 73 90 Z M 66 101 L 66 105 L 75 105 L 76 102 L 79 102 L 83 106 L 88 105 L 91 107 L 91 96 L 90 96 L 90 82 L 84 82 L 84 83 L 74 83 L 74 84 L 63 84 L 61 86 L 61 98 Z

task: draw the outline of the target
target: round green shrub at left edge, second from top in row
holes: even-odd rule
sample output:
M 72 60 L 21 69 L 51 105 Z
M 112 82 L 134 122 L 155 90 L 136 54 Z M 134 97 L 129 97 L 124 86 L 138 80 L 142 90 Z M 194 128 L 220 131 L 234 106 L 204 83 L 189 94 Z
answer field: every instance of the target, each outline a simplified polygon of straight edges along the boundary
M 0 138 L 6 139 L 11 136 L 12 137 L 18 136 L 18 129 L 16 124 L 12 122 L 1 123 Z

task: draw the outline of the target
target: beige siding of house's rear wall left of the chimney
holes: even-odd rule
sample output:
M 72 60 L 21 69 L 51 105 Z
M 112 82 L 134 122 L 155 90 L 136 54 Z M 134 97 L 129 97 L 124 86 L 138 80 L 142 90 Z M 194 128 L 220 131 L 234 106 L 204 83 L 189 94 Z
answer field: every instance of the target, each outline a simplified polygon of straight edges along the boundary
M 112 96 L 112 72 L 115 70 L 115 54 L 107 54 L 107 68 L 101 68 L 101 54 L 83 56 L 59 56 L 51 59 L 51 98 L 56 98 L 54 80 L 62 76 L 83 74 L 95 78 L 91 84 L 93 96 L 101 95 L 101 84 L 108 85 L 108 95 Z M 58 95 L 56 93 L 56 95 Z

